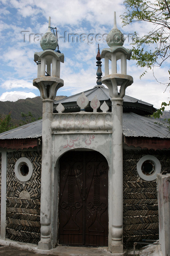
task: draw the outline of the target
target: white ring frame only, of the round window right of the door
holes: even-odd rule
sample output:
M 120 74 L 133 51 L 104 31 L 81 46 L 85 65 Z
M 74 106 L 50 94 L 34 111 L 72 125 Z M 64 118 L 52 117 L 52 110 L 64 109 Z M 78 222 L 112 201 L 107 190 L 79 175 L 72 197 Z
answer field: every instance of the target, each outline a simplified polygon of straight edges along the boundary
M 142 172 L 142 165 L 147 160 L 151 161 L 154 164 L 154 172 L 150 175 L 146 175 Z M 157 173 L 161 173 L 161 163 L 159 162 L 158 158 L 154 157 L 153 155 L 145 155 L 144 157 L 141 157 L 141 159 L 137 163 L 137 172 L 143 180 L 155 180 L 157 178 Z

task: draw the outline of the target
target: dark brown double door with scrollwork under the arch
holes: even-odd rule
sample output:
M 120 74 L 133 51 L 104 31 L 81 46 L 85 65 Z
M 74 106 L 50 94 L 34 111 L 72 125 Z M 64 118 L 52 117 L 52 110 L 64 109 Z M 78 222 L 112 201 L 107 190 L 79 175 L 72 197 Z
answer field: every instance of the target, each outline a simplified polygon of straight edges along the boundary
M 60 158 L 59 244 L 108 246 L 108 163 L 96 151 Z

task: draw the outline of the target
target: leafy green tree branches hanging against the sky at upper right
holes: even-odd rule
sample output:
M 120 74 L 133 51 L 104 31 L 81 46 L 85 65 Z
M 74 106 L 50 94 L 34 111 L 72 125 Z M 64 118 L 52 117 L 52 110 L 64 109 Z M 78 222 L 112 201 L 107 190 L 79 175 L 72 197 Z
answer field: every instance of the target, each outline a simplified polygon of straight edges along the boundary
M 151 3 L 145 0 L 125 0 L 124 5 L 126 12 L 120 15 L 123 26 L 143 21 L 146 27 L 147 23 L 151 23 L 148 27 L 153 27 L 143 36 L 134 33 L 131 58 L 136 60 L 137 66 L 152 69 L 167 62 L 170 55 L 170 1 L 155 0 Z M 167 65 L 169 65 L 168 62 Z M 168 72 L 170 75 L 170 70 Z M 140 79 L 145 74 L 146 71 L 140 75 Z M 161 83 L 161 81 L 158 82 Z M 169 86 L 168 78 L 166 84 Z

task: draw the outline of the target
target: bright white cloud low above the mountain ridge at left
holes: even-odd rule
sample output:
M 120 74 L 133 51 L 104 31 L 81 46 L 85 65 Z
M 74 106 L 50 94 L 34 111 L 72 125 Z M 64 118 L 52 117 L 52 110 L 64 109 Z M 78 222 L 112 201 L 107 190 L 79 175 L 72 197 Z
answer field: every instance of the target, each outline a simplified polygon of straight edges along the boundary
M 18 99 L 34 98 L 34 93 L 25 93 L 24 91 L 6 91 L 0 96 L 0 101 L 17 101 Z

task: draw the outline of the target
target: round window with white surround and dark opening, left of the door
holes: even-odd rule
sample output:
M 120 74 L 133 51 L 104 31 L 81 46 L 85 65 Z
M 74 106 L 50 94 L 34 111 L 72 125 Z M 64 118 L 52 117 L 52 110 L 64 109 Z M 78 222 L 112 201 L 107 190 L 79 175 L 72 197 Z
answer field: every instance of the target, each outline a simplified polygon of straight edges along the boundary
M 28 181 L 33 172 L 31 161 L 26 157 L 19 158 L 15 163 L 15 175 L 20 181 Z

